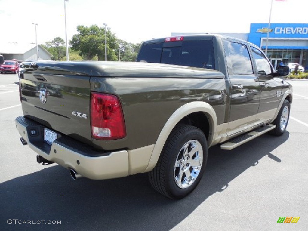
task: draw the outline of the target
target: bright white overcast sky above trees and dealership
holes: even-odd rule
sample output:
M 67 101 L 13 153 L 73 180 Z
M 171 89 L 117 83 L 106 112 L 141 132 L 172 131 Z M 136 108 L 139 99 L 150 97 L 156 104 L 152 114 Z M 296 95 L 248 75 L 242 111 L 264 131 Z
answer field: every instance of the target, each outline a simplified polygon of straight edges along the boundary
M 76 26 L 107 23 L 119 39 L 140 43 L 172 32 L 249 33 L 268 23 L 271 0 L 69 0 L 67 37 Z M 273 1 L 271 22 L 308 23 L 308 0 Z M 0 42 L 65 40 L 64 0 L 0 0 Z M 1 43 L 0 43 L 1 46 Z

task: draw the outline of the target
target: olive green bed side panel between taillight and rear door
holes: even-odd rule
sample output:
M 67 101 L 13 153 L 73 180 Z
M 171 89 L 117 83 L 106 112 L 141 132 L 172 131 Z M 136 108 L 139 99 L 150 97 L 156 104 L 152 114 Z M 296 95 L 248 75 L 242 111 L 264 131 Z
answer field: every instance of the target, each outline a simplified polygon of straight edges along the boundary
M 97 148 L 135 149 L 155 144 L 170 116 L 193 101 L 212 105 L 217 123 L 225 117 L 225 80 L 221 78 L 134 78 L 90 79 L 91 90 L 117 95 L 122 103 L 127 136 L 120 140 L 93 140 Z

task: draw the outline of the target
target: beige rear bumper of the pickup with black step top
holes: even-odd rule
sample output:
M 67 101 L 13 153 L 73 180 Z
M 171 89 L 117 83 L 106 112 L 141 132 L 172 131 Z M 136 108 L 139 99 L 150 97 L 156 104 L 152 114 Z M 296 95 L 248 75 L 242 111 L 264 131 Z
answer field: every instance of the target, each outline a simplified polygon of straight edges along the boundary
M 44 127 L 25 117 L 15 119 L 19 134 L 25 139 L 29 147 L 44 157 L 64 168 L 74 169 L 80 175 L 103 180 L 128 175 L 128 152 L 98 152 L 87 144 L 73 140 L 68 136 L 61 136 L 52 143 L 44 142 Z M 31 131 L 35 130 L 33 135 Z

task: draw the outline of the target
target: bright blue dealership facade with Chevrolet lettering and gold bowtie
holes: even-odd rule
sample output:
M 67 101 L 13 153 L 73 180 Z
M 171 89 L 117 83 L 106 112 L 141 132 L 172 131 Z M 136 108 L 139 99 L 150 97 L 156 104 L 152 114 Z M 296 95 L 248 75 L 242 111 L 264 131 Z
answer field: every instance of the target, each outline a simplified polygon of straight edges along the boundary
M 267 37 L 268 23 L 251 23 L 248 41 L 261 46 L 261 38 Z M 273 49 L 308 49 L 308 24 L 306 23 L 271 23 L 270 39 L 307 40 L 306 46 L 269 46 Z M 264 45 L 264 43 L 263 43 Z

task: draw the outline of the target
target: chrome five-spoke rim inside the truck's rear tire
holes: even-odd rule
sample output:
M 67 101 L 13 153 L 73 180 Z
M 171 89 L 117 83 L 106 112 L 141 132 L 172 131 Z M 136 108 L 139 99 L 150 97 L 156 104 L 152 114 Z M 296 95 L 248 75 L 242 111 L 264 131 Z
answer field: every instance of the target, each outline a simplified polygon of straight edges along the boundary
M 192 185 L 201 171 L 203 149 L 198 140 L 189 140 L 180 149 L 174 164 L 174 180 L 179 188 Z

